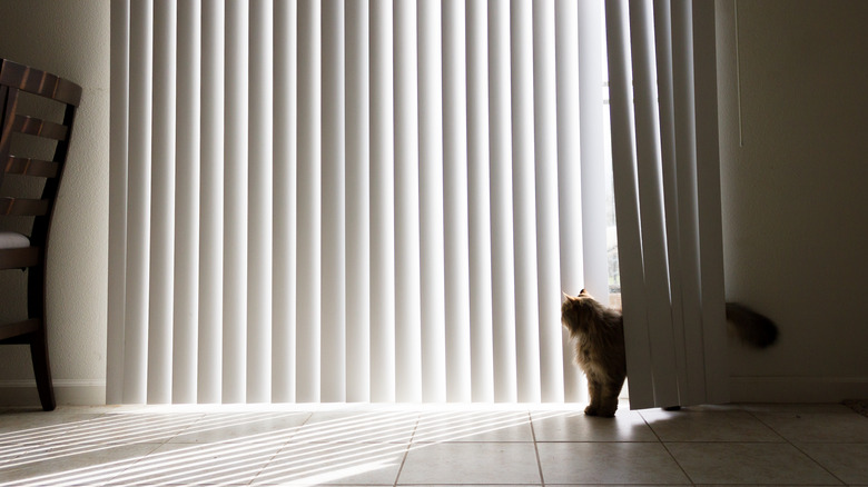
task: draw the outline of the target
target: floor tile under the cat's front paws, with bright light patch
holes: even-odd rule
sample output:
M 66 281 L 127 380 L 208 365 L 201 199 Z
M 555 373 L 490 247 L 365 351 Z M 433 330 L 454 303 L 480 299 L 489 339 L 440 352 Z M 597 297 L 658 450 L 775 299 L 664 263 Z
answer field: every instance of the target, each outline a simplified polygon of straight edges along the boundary
M 533 411 L 536 441 L 657 441 L 638 411 L 619 410 L 614 418 L 581 411 Z

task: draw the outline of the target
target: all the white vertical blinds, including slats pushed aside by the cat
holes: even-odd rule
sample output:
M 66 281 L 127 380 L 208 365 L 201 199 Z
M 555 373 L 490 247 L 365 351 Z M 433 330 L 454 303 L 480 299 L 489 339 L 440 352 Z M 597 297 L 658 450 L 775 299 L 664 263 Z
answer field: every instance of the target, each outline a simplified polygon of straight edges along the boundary
M 713 6 L 708 61 L 678 4 L 112 0 L 107 401 L 584 401 L 604 38 L 631 396 L 720 397 Z

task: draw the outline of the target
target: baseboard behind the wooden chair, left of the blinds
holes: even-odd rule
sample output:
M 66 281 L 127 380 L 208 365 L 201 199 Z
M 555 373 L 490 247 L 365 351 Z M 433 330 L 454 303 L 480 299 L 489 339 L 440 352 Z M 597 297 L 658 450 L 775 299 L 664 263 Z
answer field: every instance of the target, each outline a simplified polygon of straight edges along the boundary
M 55 400 L 59 406 L 101 406 L 106 404 L 105 380 L 53 381 Z M 33 380 L 0 380 L 0 406 L 39 406 Z

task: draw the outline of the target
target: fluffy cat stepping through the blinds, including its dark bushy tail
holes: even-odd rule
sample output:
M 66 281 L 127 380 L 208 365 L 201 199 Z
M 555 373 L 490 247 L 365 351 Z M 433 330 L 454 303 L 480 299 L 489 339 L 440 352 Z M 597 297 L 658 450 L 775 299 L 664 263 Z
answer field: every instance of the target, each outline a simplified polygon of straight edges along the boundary
M 575 362 L 588 377 L 591 402 L 584 414 L 613 417 L 627 379 L 621 310 L 603 306 L 584 289 L 575 297 L 564 294 L 564 298 L 561 322 L 575 345 Z M 778 337 L 769 318 L 737 302 L 727 302 L 727 320 L 742 341 L 758 348 L 772 345 Z

